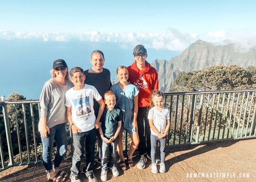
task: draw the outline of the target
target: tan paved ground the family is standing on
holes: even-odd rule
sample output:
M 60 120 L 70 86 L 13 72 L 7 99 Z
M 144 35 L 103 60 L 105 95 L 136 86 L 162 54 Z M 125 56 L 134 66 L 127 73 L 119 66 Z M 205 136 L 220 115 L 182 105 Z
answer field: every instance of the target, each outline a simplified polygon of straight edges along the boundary
M 199 146 L 180 146 L 167 149 L 166 173 L 151 173 L 151 161 L 145 169 L 136 166 L 120 171 L 120 176 L 112 177 L 108 171 L 109 182 L 169 182 L 169 181 L 256 181 L 256 139 L 233 140 L 208 143 Z M 136 153 L 137 154 L 137 153 Z M 158 154 L 159 158 L 159 154 Z M 135 165 L 139 156 L 133 157 Z M 63 161 L 61 168 L 70 174 L 71 160 Z M 82 163 L 81 167 L 83 167 Z M 100 181 L 101 169 L 95 166 L 95 176 Z M 159 170 L 159 166 L 158 166 Z M 88 179 L 80 174 L 83 182 Z M 42 163 L 17 166 L 2 171 L 0 181 L 46 181 Z M 70 179 L 66 179 L 67 182 Z

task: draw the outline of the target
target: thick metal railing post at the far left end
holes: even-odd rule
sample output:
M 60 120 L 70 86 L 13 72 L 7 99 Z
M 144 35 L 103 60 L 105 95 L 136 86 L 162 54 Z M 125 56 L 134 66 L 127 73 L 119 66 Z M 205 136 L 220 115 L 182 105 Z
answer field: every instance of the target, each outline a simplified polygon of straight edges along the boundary
M 13 166 L 14 165 L 14 157 L 13 157 L 13 151 L 12 151 L 11 131 L 10 131 L 7 105 L 5 103 L 3 103 L 3 113 L 4 113 L 4 125 L 5 125 L 5 131 L 6 131 L 8 153 L 9 153 L 9 158 L 10 158 L 9 166 Z

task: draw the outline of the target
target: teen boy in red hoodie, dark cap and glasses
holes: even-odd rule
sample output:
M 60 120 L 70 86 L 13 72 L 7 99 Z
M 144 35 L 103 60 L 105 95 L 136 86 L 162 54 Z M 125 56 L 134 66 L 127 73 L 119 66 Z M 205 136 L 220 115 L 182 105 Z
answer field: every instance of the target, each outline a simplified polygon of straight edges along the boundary
M 151 67 L 150 63 L 146 61 L 147 50 L 143 45 L 138 45 L 133 49 L 133 56 L 135 62 L 127 67 L 129 71 L 128 82 L 134 84 L 139 89 L 137 124 L 140 139 L 138 146 L 140 160 L 137 167 L 139 169 L 144 169 L 147 158 L 151 160 L 150 126 L 147 115 L 149 96 L 152 94 L 151 91 L 158 90 L 158 73 L 157 70 L 154 67 Z

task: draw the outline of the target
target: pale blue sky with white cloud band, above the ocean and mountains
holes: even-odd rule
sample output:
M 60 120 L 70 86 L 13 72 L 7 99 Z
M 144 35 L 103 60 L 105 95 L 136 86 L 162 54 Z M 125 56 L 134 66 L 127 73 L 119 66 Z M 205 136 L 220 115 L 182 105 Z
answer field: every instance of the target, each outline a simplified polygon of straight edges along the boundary
M 255 0 L 1 0 L 0 39 L 143 43 L 183 51 L 197 39 L 256 46 Z

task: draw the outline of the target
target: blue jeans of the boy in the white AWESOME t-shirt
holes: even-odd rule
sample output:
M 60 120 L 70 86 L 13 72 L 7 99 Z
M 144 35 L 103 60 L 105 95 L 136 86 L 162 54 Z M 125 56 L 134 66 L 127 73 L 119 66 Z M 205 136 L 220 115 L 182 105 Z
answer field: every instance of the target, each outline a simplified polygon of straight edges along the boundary
M 96 129 L 90 131 L 73 133 L 74 154 L 72 159 L 71 176 L 78 176 L 80 173 L 81 159 L 84 155 L 84 145 L 86 150 L 86 176 L 93 173 Z

